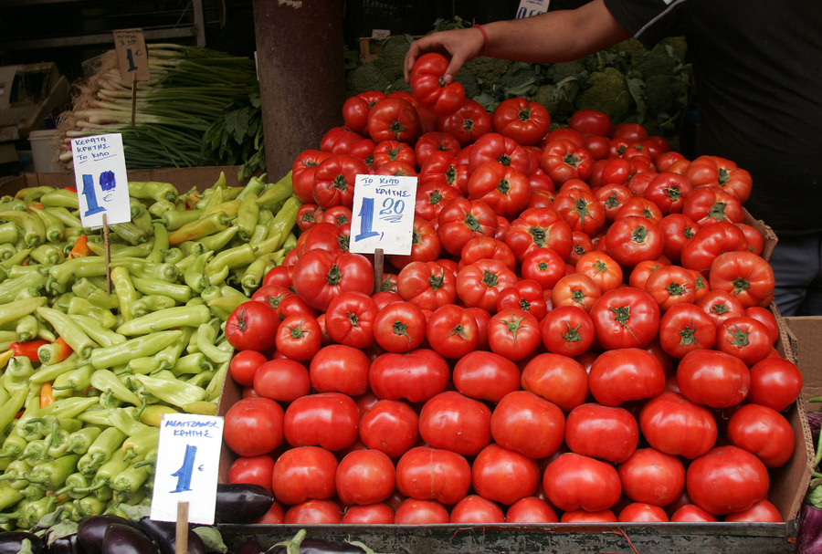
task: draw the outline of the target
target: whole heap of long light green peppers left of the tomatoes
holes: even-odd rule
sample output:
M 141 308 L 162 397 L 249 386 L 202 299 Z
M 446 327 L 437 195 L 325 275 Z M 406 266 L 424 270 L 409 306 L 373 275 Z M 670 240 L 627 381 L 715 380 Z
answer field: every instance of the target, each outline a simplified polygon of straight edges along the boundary
M 290 175 L 265 177 L 129 183 L 107 232 L 72 189 L 0 198 L 0 528 L 150 502 L 163 414 L 216 413 L 225 320 L 296 243 Z

